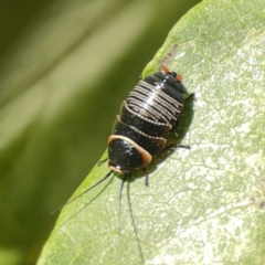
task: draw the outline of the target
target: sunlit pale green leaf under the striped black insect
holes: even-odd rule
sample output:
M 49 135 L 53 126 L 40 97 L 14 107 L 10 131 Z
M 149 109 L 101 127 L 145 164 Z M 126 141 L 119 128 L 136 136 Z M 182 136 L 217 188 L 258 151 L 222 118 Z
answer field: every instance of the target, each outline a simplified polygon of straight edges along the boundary
M 176 24 L 144 75 L 166 60 L 195 93 L 191 150 L 127 182 L 120 215 L 117 176 L 67 204 L 39 265 L 265 263 L 264 19 L 262 0 L 208 0 Z

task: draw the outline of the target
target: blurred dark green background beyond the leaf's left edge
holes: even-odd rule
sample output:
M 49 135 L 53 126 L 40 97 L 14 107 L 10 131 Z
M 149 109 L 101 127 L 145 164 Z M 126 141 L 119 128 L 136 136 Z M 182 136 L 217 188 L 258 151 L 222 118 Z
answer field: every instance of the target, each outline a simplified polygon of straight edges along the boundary
M 119 105 L 197 0 L 0 2 L 0 265 L 34 264 Z

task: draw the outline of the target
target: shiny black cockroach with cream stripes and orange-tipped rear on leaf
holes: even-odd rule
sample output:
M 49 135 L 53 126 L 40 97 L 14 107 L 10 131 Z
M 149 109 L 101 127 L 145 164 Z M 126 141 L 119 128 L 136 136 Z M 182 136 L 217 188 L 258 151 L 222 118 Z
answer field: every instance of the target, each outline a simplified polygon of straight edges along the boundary
M 123 174 L 120 198 L 126 179 L 135 170 L 142 169 L 148 186 L 146 167 L 152 158 L 170 148 L 189 146 L 167 146 L 167 137 L 176 130 L 183 108 L 187 89 L 182 76 L 162 66 L 161 71 L 140 80 L 120 106 L 113 134 L 108 138 L 108 160 L 110 171 L 91 188 L 70 200 L 76 200 L 112 176 Z M 193 94 L 191 94 L 193 95 Z M 120 199 L 121 201 L 121 199 Z M 66 204 L 67 204 L 66 203 Z

